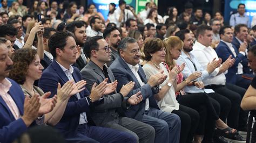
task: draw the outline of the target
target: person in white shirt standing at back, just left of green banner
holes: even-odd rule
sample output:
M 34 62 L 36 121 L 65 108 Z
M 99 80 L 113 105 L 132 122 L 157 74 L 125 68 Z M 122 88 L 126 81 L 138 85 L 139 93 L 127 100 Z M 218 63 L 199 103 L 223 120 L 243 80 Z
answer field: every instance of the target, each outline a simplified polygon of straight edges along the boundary
M 117 27 L 119 27 L 122 22 L 126 22 L 126 20 L 129 18 L 136 18 L 130 10 L 127 10 L 125 8 L 126 2 L 120 0 L 118 8 L 114 10 L 114 17 L 116 18 L 114 23 L 117 24 Z

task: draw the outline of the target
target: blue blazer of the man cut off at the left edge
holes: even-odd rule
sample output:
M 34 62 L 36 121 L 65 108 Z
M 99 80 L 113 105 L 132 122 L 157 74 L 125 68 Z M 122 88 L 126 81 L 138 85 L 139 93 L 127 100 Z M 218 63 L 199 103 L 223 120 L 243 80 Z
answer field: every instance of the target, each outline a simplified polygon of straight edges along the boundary
M 9 94 L 14 99 L 19 113 L 23 115 L 23 104 L 24 104 L 24 94 L 21 87 L 13 80 L 8 78 L 11 82 L 11 88 Z M 19 137 L 22 133 L 26 131 L 27 127 L 24 121 L 19 118 L 15 119 L 12 115 L 7 104 L 4 102 L 2 96 L 0 96 L 0 142 L 12 142 L 14 139 Z

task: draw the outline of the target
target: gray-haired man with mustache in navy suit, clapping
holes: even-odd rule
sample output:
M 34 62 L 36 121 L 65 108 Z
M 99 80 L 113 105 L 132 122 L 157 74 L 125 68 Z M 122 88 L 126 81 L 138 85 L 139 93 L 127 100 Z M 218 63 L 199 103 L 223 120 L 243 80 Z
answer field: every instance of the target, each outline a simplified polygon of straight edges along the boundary
M 179 142 L 180 118 L 172 113 L 161 111 L 157 105 L 154 94 L 158 93 L 158 85 L 163 83 L 165 75 L 160 73 L 147 80 L 146 75 L 139 65 L 140 49 L 133 38 L 124 38 L 118 45 L 118 57 L 110 69 L 118 81 L 117 91 L 130 81 L 135 82 L 133 90 L 127 95 L 131 97 L 141 91 L 143 101 L 132 105 L 125 115 L 130 118 L 149 124 L 156 130 L 155 142 Z

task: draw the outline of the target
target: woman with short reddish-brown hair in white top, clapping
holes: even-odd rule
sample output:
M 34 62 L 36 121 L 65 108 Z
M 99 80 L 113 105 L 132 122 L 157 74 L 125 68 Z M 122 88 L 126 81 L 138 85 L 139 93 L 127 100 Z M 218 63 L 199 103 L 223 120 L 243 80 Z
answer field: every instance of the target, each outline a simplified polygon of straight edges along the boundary
M 182 46 L 183 43 L 180 40 L 180 47 Z M 143 70 L 148 79 L 153 75 L 161 73 L 161 71 L 164 71 L 164 74 L 167 75 L 166 80 L 159 85 L 161 89 L 158 94 L 154 95 L 154 98 L 156 98 L 157 104 L 161 110 L 174 113 L 180 117 L 180 142 L 192 142 L 199 123 L 199 114 L 196 110 L 180 105 L 177 102 L 174 89 L 176 89 L 176 77 L 180 69 L 176 66 L 168 71 L 165 66 L 161 64 L 161 62 L 165 60 L 165 47 L 165 42 L 158 38 L 150 39 L 146 42 L 144 47 L 144 59 L 147 62 L 143 66 Z

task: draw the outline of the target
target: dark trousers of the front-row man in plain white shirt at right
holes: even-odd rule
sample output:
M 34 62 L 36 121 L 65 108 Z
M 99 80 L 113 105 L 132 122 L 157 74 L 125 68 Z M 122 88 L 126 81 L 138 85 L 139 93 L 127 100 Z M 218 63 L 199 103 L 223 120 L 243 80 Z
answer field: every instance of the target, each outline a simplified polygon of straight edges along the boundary
M 208 85 L 207 88 L 213 89 L 230 100 L 231 109 L 227 116 L 227 125 L 237 130 L 246 127 L 248 111 L 240 108 L 241 99 L 244 97 L 246 89 L 231 83 L 226 83 L 226 85 Z M 226 120 L 225 116 L 220 116 L 220 118 L 224 121 Z

